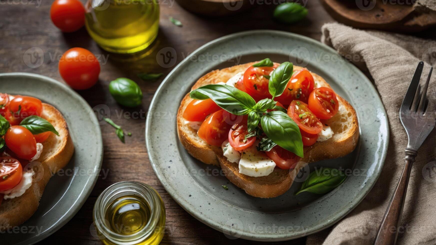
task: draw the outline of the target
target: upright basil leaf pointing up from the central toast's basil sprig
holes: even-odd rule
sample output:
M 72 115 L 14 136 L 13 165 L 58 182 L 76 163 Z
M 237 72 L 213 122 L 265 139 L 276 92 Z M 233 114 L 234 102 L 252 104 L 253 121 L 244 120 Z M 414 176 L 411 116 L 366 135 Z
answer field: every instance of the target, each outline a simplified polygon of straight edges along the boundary
M 292 76 L 293 69 L 292 63 L 286 61 L 272 71 L 272 75 L 269 78 L 268 88 L 269 93 L 273 98 L 283 94 L 283 91 Z

